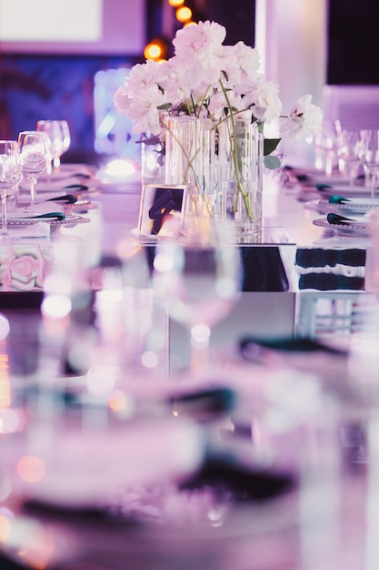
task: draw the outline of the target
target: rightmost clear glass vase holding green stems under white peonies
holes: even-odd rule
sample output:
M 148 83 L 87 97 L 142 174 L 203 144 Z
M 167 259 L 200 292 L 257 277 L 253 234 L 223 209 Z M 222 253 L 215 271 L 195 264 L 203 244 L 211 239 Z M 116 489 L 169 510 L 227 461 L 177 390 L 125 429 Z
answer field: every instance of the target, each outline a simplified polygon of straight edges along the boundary
M 262 234 L 264 136 L 251 117 L 231 117 L 218 129 L 220 217 L 233 219 L 236 239 L 254 243 Z

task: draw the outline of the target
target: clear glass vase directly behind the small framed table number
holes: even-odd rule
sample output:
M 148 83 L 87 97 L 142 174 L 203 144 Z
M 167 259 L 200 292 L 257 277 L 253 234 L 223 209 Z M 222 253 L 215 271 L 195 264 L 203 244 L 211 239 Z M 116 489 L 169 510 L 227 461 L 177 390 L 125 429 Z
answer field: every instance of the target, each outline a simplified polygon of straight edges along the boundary
M 215 134 L 210 121 L 191 116 L 165 121 L 165 183 L 185 185 L 191 214 L 214 217 Z

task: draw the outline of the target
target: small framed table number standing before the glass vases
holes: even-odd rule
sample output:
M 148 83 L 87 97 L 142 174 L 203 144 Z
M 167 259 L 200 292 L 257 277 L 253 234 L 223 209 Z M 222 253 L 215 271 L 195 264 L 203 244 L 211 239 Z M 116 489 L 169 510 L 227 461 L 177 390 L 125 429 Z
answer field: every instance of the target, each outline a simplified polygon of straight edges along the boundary
M 145 184 L 142 187 L 138 235 L 172 237 L 181 228 L 185 185 Z

